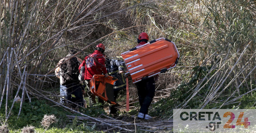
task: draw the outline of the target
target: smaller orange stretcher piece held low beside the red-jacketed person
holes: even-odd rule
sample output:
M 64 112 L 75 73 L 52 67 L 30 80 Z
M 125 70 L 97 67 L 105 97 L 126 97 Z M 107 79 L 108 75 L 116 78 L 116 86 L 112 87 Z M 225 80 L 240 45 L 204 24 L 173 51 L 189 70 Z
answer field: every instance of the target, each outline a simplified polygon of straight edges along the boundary
M 112 76 L 94 75 L 90 80 L 91 92 L 100 99 L 111 104 L 117 104 L 114 99 L 114 82 L 117 79 Z

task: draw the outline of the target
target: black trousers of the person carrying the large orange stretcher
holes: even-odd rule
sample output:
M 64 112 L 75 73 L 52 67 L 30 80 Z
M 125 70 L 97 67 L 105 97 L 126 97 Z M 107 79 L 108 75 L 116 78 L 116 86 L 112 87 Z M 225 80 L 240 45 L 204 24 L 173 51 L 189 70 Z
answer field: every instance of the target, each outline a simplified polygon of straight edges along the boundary
M 135 83 L 138 90 L 140 113 L 147 114 L 149 106 L 155 95 L 155 81 L 154 77 L 144 79 L 138 83 Z

